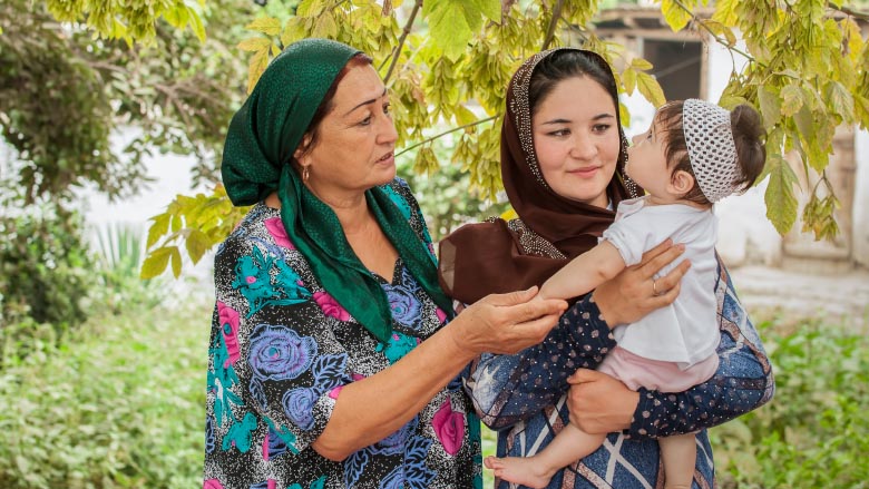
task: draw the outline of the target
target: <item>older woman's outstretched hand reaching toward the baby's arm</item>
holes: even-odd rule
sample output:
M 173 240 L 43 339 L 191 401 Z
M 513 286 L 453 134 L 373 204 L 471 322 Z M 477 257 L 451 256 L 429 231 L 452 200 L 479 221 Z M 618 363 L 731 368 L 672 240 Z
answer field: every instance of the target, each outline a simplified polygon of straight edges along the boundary
M 539 299 L 537 291 L 534 286 L 482 297 L 450 323 L 452 339 L 473 356 L 482 352 L 512 354 L 541 342 L 567 303 Z

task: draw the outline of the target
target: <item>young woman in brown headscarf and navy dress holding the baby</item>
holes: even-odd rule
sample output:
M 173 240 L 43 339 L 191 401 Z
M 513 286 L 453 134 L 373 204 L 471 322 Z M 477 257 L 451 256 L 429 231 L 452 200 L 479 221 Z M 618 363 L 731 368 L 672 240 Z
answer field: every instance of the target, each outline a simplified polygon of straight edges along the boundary
M 613 209 L 639 193 L 624 174 L 617 97 L 609 66 L 594 52 L 555 49 L 523 63 L 507 89 L 501 130 L 501 175 L 519 218 L 467 225 L 445 238 L 445 291 L 470 303 L 540 285 L 597 244 Z M 773 392 L 770 363 L 723 265 L 712 379 L 681 393 L 635 392 L 587 370 L 616 345 L 613 327 L 673 302 L 689 266 L 670 263 L 677 254 L 667 244 L 647 252 L 639 265 L 580 297 L 539 345 L 475 362 L 468 387 L 482 421 L 498 430 L 499 457 L 537 453 L 567 423 L 569 409 L 569 421 L 584 431 L 612 433 L 547 489 L 664 487 L 655 438 L 696 431 L 693 487 L 714 486 L 705 428 L 758 408 Z

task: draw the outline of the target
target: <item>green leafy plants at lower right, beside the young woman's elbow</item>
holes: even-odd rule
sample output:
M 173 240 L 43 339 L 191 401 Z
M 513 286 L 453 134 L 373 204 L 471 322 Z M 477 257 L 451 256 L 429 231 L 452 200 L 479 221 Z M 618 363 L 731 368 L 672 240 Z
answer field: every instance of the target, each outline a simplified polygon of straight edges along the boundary
M 855 327 L 760 324 L 772 401 L 712 430 L 724 488 L 869 487 L 869 339 Z

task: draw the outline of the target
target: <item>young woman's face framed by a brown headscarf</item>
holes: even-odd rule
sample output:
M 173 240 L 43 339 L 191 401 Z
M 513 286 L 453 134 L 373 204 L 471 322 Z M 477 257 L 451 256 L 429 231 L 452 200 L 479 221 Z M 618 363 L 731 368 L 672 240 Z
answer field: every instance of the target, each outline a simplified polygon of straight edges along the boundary
M 619 138 L 613 97 L 588 77 L 559 81 L 538 102 L 531 133 L 540 172 L 558 195 L 606 207 Z

